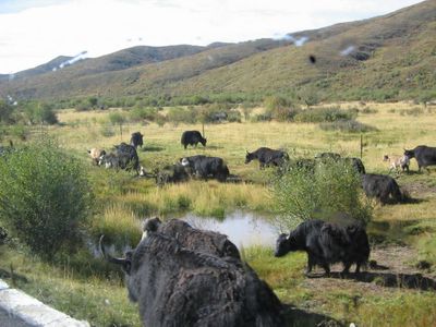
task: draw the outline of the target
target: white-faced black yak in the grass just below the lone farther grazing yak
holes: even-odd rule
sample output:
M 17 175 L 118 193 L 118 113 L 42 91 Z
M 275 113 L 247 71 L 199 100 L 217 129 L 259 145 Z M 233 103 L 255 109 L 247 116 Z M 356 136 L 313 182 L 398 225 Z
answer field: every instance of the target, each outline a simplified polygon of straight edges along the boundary
M 220 182 L 226 182 L 230 174 L 229 168 L 221 158 L 207 157 L 203 155 L 184 157 L 180 164 L 189 167 L 193 174 L 207 180 L 208 177 L 215 178 Z

